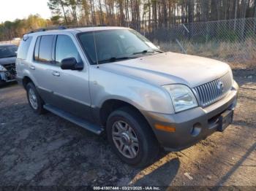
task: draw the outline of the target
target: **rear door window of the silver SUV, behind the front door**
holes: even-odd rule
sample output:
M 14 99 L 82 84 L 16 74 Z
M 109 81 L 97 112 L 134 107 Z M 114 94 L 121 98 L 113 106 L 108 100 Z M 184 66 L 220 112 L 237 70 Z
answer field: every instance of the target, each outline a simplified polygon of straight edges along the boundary
M 53 61 L 53 35 L 45 35 L 37 38 L 36 47 L 34 50 L 35 61 L 43 63 L 51 63 Z M 38 48 L 39 47 L 39 48 Z

